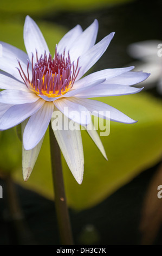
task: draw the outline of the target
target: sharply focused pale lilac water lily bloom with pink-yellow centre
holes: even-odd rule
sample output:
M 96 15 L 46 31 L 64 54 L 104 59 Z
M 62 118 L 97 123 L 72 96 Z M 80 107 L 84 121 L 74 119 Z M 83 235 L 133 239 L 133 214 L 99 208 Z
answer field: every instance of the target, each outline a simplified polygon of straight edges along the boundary
M 0 58 L 0 130 L 22 123 L 23 178 L 28 180 L 40 152 L 44 134 L 52 114 L 60 111 L 64 122 L 73 119 L 87 127 L 93 111 L 109 111 L 110 119 L 121 123 L 135 121 L 117 109 L 89 97 L 134 94 L 141 91 L 131 87 L 145 80 L 149 74 L 131 71 L 134 67 L 105 69 L 87 75 L 86 72 L 106 51 L 114 33 L 95 44 L 98 21 L 85 31 L 77 25 L 60 40 L 51 56 L 46 41 L 36 25 L 27 16 L 24 24 L 24 44 L 27 53 L 1 42 L 3 56 Z M 83 78 L 82 78 L 83 77 Z M 68 107 L 68 113 L 64 108 Z M 73 115 L 73 111 L 77 115 Z M 81 113 L 86 118 L 81 118 Z M 107 118 L 103 115 L 103 118 Z M 85 121 L 86 120 L 86 121 Z M 62 121 L 62 120 L 59 120 Z M 105 150 L 95 130 L 88 130 L 90 137 L 106 157 Z M 79 129 L 56 130 L 54 135 L 63 156 L 76 181 L 83 178 L 83 147 Z

